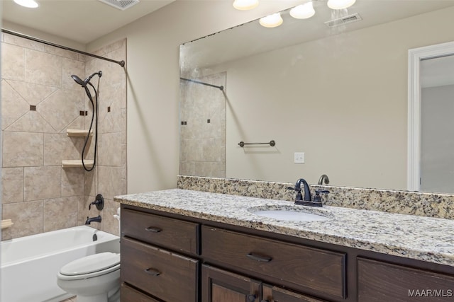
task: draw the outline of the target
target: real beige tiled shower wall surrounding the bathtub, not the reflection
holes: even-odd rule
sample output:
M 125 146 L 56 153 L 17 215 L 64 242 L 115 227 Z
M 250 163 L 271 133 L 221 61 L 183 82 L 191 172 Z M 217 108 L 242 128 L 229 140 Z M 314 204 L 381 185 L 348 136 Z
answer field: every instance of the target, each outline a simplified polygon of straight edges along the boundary
M 87 216 L 98 214 L 102 222 L 92 226 L 118 234 L 113 215 L 119 205 L 113 197 L 127 188 L 125 69 L 4 33 L 1 47 L 1 219 L 14 223 L 2 230 L 2 240 L 82 225 Z M 96 54 L 126 59 L 126 40 Z M 68 137 L 67 129 L 88 129 L 91 121 L 87 95 L 70 76 L 84 79 L 100 70 L 96 168 L 62 168 L 62 160 L 81 157 L 84 144 L 83 137 Z M 96 76 L 92 83 L 98 86 Z M 79 114 L 85 110 L 87 116 Z M 92 156 L 93 151 L 87 158 Z M 89 211 L 99 193 L 104 210 Z

